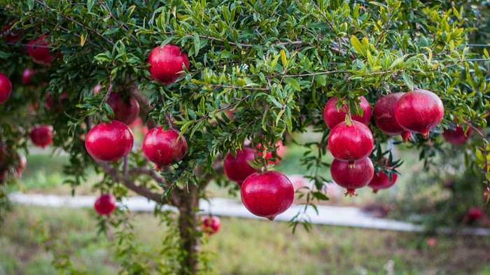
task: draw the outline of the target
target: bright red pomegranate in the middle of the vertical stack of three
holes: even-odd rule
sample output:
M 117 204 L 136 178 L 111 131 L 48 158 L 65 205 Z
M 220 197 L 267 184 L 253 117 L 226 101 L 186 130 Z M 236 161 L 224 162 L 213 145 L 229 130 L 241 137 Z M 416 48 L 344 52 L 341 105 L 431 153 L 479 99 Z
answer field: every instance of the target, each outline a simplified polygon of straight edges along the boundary
M 328 148 L 337 160 L 353 162 L 370 155 L 374 146 L 371 130 L 358 121 L 351 126 L 341 122 L 332 129 L 328 136 Z

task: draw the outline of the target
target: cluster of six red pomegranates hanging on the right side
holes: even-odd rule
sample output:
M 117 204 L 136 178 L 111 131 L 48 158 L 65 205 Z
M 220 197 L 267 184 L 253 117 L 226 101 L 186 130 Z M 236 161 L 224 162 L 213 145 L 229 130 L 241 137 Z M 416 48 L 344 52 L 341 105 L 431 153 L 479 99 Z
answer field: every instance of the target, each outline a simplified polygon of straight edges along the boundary
M 335 158 L 330 167 L 333 181 L 347 189 L 346 195 L 356 195 L 356 189 L 369 185 L 374 192 L 389 188 L 396 181 L 383 172 L 374 174 L 374 166 L 369 158 L 374 139 L 369 127 L 371 114 L 378 129 L 389 136 L 402 136 L 407 142 L 412 132 L 428 136 L 444 116 L 442 101 L 428 90 L 415 89 L 411 92 L 397 92 L 381 97 L 374 110 L 364 97 L 359 106 L 362 115 L 350 115 L 349 106 L 337 107 L 338 99 L 332 97 L 323 111 L 323 119 L 329 129 L 328 148 Z M 348 117 L 346 118 L 346 115 Z M 458 129 L 456 129 L 458 131 Z M 386 160 L 380 163 L 386 165 Z

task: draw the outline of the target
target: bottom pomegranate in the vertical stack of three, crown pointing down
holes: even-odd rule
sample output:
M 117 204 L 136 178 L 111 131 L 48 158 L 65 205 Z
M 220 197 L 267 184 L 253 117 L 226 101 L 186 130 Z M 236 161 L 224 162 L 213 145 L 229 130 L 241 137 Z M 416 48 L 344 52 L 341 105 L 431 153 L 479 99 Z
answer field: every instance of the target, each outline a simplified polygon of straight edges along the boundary
M 355 165 L 342 160 L 333 160 L 330 165 L 332 180 L 337 185 L 346 188 L 345 195 L 357 195 L 356 189 L 367 185 L 374 176 L 374 166 L 369 157 L 355 162 Z

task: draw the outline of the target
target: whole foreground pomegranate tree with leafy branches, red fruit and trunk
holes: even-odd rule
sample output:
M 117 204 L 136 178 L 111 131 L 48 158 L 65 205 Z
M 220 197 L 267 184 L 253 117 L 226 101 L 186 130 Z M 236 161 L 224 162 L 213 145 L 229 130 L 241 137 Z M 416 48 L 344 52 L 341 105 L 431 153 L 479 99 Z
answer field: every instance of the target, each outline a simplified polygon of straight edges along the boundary
M 128 245 L 118 255 L 123 265 L 137 259 L 141 270 L 212 274 L 200 254 L 200 199 L 238 195 L 232 181 L 243 181 L 240 195 L 252 213 L 274 218 L 293 202 L 286 176 L 300 171 L 300 211 L 335 195 L 325 172 L 353 195 L 376 181 L 370 162 L 383 157 L 391 168 L 412 154 L 423 164 L 465 155 L 465 164 L 481 168 L 475 185 L 490 178 L 490 65 L 482 47 L 465 46 L 486 43 L 476 41 L 488 32 L 481 1 L 261 1 L 260 12 L 249 1 L 105 2 L 2 0 L 0 71 L 11 85 L 1 81 L 0 99 L 11 95 L 0 104 L 0 143 L 15 156 L 31 146 L 31 129 L 38 143 L 34 125 L 50 124 L 54 138 L 52 128 L 41 136 L 69 155 L 71 188 L 86 188 L 93 181 L 83 178 L 99 173 L 97 192 L 155 202 L 155 216 L 172 225 L 162 227 L 165 236 L 176 240 L 162 251 L 178 253 L 153 262 Z M 453 7 L 462 6 L 456 14 Z M 19 40 L 8 42 L 14 33 Z M 22 84 L 26 68 L 39 83 L 30 75 Z M 137 117 L 143 125 L 134 139 L 125 122 Z M 438 131 L 430 139 L 416 134 L 447 128 L 454 118 L 472 129 L 474 142 L 449 147 Z M 392 139 L 398 135 L 407 143 Z M 279 140 L 290 141 L 288 155 Z M 0 174 L 10 176 L 16 164 L 10 157 Z M 8 190 L 0 188 L 0 198 Z M 166 204 L 175 215 L 160 211 Z M 100 229 L 123 232 L 132 216 L 125 212 L 99 218 Z M 307 213 L 292 215 L 290 225 L 308 223 Z M 108 238 L 120 246 L 128 241 L 122 236 Z

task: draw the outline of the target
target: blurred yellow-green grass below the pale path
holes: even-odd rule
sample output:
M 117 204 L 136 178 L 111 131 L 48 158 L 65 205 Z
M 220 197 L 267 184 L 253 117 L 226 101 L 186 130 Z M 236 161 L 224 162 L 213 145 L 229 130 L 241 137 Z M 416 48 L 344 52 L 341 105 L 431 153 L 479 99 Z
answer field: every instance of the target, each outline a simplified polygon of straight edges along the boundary
M 111 237 L 97 234 L 92 209 L 17 206 L 0 226 L 0 274 L 56 274 L 41 245 L 48 232 L 74 267 L 117 274 Z M 135 244 L 156 252 L 164 237 L 153 215 L 134 214 Z M 215 251 L 213 274 L 490 274 L 490 239 L 314 226 L 291 233 L 286 223 L 222 218 L 204 249 Z M 393 273 L 387 272 L 393 269 Z

